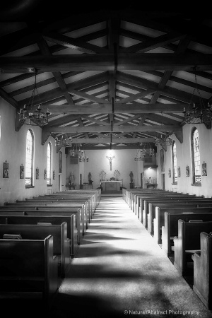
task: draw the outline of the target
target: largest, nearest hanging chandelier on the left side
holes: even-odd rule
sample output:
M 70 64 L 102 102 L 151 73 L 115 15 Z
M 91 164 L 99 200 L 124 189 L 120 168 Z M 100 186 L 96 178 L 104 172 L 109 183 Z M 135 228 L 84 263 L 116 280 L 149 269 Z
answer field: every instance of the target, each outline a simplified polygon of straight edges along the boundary
M 36 77 L 37 70 L 35 69 L 35 84 L 33 88 L 33 93 L 30 97 L 28 105 L 24 105 L 23 108 L 20 108 L 20 112 L 18 113 L 20 124 L 27 124 L 31 126 L 44 126 L 48 123 L 50 113 L 48 109 L 47 112 L 42 112 L 40 95 L 37 91 Z M 36 109 L 35 106 L 37 106 Z

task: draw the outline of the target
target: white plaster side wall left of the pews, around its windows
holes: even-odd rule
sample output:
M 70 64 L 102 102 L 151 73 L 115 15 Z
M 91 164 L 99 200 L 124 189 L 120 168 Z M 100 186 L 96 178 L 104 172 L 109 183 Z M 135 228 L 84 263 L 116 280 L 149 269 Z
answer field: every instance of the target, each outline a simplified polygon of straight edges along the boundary
M 50 136 L 42 146 L 42 129 L 38 126 L 23 125 L 19 131 L 15 131 L 14 107 L 0 98 L 1 139 L 0 139 L 0 205 L 4 201 L 14 202 L 41 194 L 59 191 L 59 160 L 55 147 L 55 141 Z M 33 130 L 35 137 L 35 162 L 34 162 L 34 188 L 25 189 L 25 179 L 20 179 L 20 165 L 25 167 L 25 145 L 28 129 Z M 44 170 L 47 168 L 47 144 L 52 143 L 52 171 L 55 170 L 56 179 L 52 179 L 52 187 L 47 187 L 44 179 Z M 61 183 L 65 184 L 66 158 L 63 152 L 63 173 Z M 3 178 L 3 163 L 7 160 L 9 165 L 8 179 Z M 39 179 L 35 179 L 35 169 L 39 168 Z M 63 187 L 62 187 L 63 189 Z M 64 188 L 65 189 L 65 188 Z

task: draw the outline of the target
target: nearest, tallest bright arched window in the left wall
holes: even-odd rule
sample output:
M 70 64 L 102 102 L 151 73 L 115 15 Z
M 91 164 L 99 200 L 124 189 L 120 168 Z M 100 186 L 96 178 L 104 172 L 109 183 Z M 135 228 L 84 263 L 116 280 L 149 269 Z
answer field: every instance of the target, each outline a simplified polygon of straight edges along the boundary
M 34 136 L 31 129 L 26 136 L 26 154 L 25 154 L 25 185 L 33 186 L 33 163 L 34 163 Z

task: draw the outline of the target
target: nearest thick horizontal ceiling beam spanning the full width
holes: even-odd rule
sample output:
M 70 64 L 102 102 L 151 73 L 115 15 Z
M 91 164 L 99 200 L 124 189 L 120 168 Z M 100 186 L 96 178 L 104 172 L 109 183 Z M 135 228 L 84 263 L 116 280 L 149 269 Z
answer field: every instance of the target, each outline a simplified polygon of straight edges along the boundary
M 118 70 L 212 70 L 212 54 L 119 53 Z M 2 73 L 39 71 L 114 71 L 114 54 L 73 54 L 52 57 L 0 57 Z

